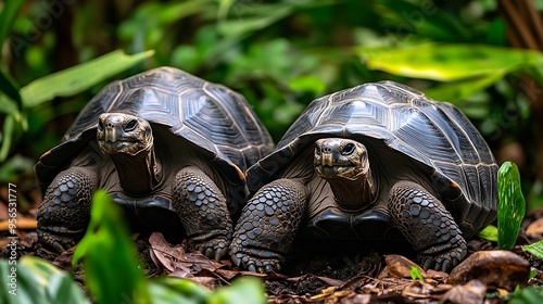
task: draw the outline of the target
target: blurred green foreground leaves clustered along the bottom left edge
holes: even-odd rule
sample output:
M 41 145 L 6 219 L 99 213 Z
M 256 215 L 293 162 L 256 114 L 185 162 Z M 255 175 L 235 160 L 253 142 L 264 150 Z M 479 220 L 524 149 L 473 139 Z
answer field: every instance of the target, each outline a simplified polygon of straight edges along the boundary
M 237 279 L 214 292 L 188 279 L 144 278 L 121 207 L 102 190 L 93 195 L 87 233 L 74 253 L 74 266 L 80 262 L 93 303 L 266 302 L 256 278 Z M 0 261 L 0 275 L 1 303 L 90 303 L 68 274 L 38 257 Z M 16 295 L 10 294 L 12 289 Z

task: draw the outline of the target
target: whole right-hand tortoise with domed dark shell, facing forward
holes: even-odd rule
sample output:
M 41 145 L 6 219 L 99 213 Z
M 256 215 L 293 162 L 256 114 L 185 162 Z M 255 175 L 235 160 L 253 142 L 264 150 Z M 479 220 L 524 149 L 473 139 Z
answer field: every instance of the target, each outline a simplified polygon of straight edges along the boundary
M 296 237 L 395 240 L 425 269 L 449 271 L 466 239 L 495 219 L 496 176 L 457 107 L 393 81 L 359 85 L 311 102 L 248 169 L 254 195 L 229 253 L 237 266 L 270 271 Z

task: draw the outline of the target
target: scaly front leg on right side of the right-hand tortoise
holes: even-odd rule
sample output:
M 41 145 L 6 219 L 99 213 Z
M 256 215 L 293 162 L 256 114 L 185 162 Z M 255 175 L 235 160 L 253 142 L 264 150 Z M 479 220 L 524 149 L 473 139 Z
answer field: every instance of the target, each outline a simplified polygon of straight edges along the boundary
M 453 216 L 418 183 L 396 182 L 389 210 L 395 226 L 417 251 L 422 268 L 450 271 L 466 256 L 466 240 Z

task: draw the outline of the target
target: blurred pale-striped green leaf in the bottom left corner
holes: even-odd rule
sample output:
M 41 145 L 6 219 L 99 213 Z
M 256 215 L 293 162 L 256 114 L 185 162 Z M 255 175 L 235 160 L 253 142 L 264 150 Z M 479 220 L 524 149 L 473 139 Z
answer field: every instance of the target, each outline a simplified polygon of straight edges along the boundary
M 2 259 L 0 276 L 0 303 L 90 303 L 68 274 L 39 257 Z

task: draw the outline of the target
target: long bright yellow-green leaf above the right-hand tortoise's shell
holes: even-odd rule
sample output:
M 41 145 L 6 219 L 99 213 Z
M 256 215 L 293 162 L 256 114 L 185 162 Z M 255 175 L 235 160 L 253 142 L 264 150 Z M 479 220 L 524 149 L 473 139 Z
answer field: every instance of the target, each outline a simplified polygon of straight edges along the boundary
M 381 51 L 358 48 L 355 52 L 370 69 L 440 81 L 504 75 L 543 63 L 539 52 L 484 45 L 425 43 Z

